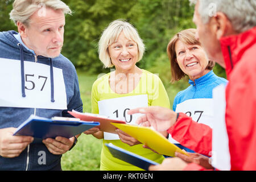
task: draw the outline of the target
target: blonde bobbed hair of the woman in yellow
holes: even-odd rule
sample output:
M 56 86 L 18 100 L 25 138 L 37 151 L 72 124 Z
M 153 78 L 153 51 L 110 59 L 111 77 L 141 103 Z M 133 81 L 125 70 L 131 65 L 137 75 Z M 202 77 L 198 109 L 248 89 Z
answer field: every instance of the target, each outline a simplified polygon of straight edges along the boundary
M 136 28 L 126 22 L 125 20 L 118 19 L 114 20 L 109 24 L 108 27 L 102 32 L 100 41 L 98 42 L 98 54 L 101 62 L 105 68 L 113 67 L 111 62 L 108 47 L 117 41 L 119 34 L 123 32 L 127 39 L 133 40 L 138 46 L 138 61 L 142 59 L 144 53 L 144 44 L 142 39 L 139 37 Z

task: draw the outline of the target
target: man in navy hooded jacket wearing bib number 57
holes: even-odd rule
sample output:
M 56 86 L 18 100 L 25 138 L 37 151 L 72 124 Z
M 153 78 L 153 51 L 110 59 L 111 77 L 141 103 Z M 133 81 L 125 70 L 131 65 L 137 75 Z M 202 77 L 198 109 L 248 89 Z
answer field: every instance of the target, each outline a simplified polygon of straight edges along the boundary
M 76 69 L 60 54 L 65 14 L 71 13 L 60 0 L 13 3 L 10 18 L 18 32 L 0 32 L 0 170 L 61 170 L 61 154 L 76 144 L 76 137 L 13 135 L 31 114 L 82 111 Z

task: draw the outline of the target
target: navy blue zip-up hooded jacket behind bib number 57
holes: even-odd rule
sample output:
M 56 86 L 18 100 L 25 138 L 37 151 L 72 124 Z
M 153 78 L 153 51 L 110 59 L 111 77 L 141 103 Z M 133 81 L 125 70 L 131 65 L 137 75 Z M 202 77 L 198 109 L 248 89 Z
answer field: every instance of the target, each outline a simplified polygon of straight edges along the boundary
M 13 34 L 18 33 L 15 31 L 0 32 L 0 57 L 17 61 L 20 61 L 20 59 L 23 59 L 24 61 L 35 61 L 33 53 L 23 46 L 20 46 Z M 67 94 L 67 98 L 63 99 L 67 99 L 67 110 L 0 107 L 0 129 L 18 127 L 30 117 L 31 114 L 38 115 L 39 117 L 51 118 L 55 116 L 72 117 L 67 113 L 68 110 L 72 109 L 82 112 L 79 82 L 76 69 L 71 61 L 61 54 L 53 59 L 44 56 L 37 56 L 36 58 L 37 63 L 49 65 L 51 69 L 52 67 L 56 67 L 63 70 L 65 91 Z M 53 82 L 51 82 L 51 85 L 52 84 Z M 20 94 L 22 94 L 21 91 Z M 45 164 L 39 162 L 42 153 L 46 156 Z M 42 139 L 35 138 L 18 157 L 3 158 L 0 156 L 0 170 L 61 170 L 60 159 L 61 155 L 54 155 L 48 151 L 47 147 L 42 143 Z

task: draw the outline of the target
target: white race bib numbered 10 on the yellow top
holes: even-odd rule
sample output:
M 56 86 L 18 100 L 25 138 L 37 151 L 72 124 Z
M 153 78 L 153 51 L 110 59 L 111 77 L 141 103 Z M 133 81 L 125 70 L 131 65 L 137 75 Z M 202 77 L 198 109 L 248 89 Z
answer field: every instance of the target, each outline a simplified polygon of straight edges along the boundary
M 127 114 L 130 109 L 137 107 L 147 107 L 148 100 L 147 94 L 138 96 L 127 96 L 119 98 L 111 98 L 108 100 L 98 101 L 99 114 L 105 115 L 112 119 L 121 119 L 126 121 L 127 124 L 136 125 L 136 120 L 143 114 Z M 105 140 L 117 140 L 119 139 L 117 134 L 104 132 Z

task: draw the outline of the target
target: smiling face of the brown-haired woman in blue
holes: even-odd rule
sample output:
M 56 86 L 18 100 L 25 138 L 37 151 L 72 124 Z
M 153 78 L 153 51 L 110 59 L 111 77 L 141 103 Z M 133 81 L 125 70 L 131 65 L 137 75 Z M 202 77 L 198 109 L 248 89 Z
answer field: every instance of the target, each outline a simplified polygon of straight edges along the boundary
M 209 60 L 201 46 L 196 44 L 189 45 L 177 40 L 175 43 L 175 53 L 180 69 L 192 81 L 209 72 L 209 69 L 206 69 Z

